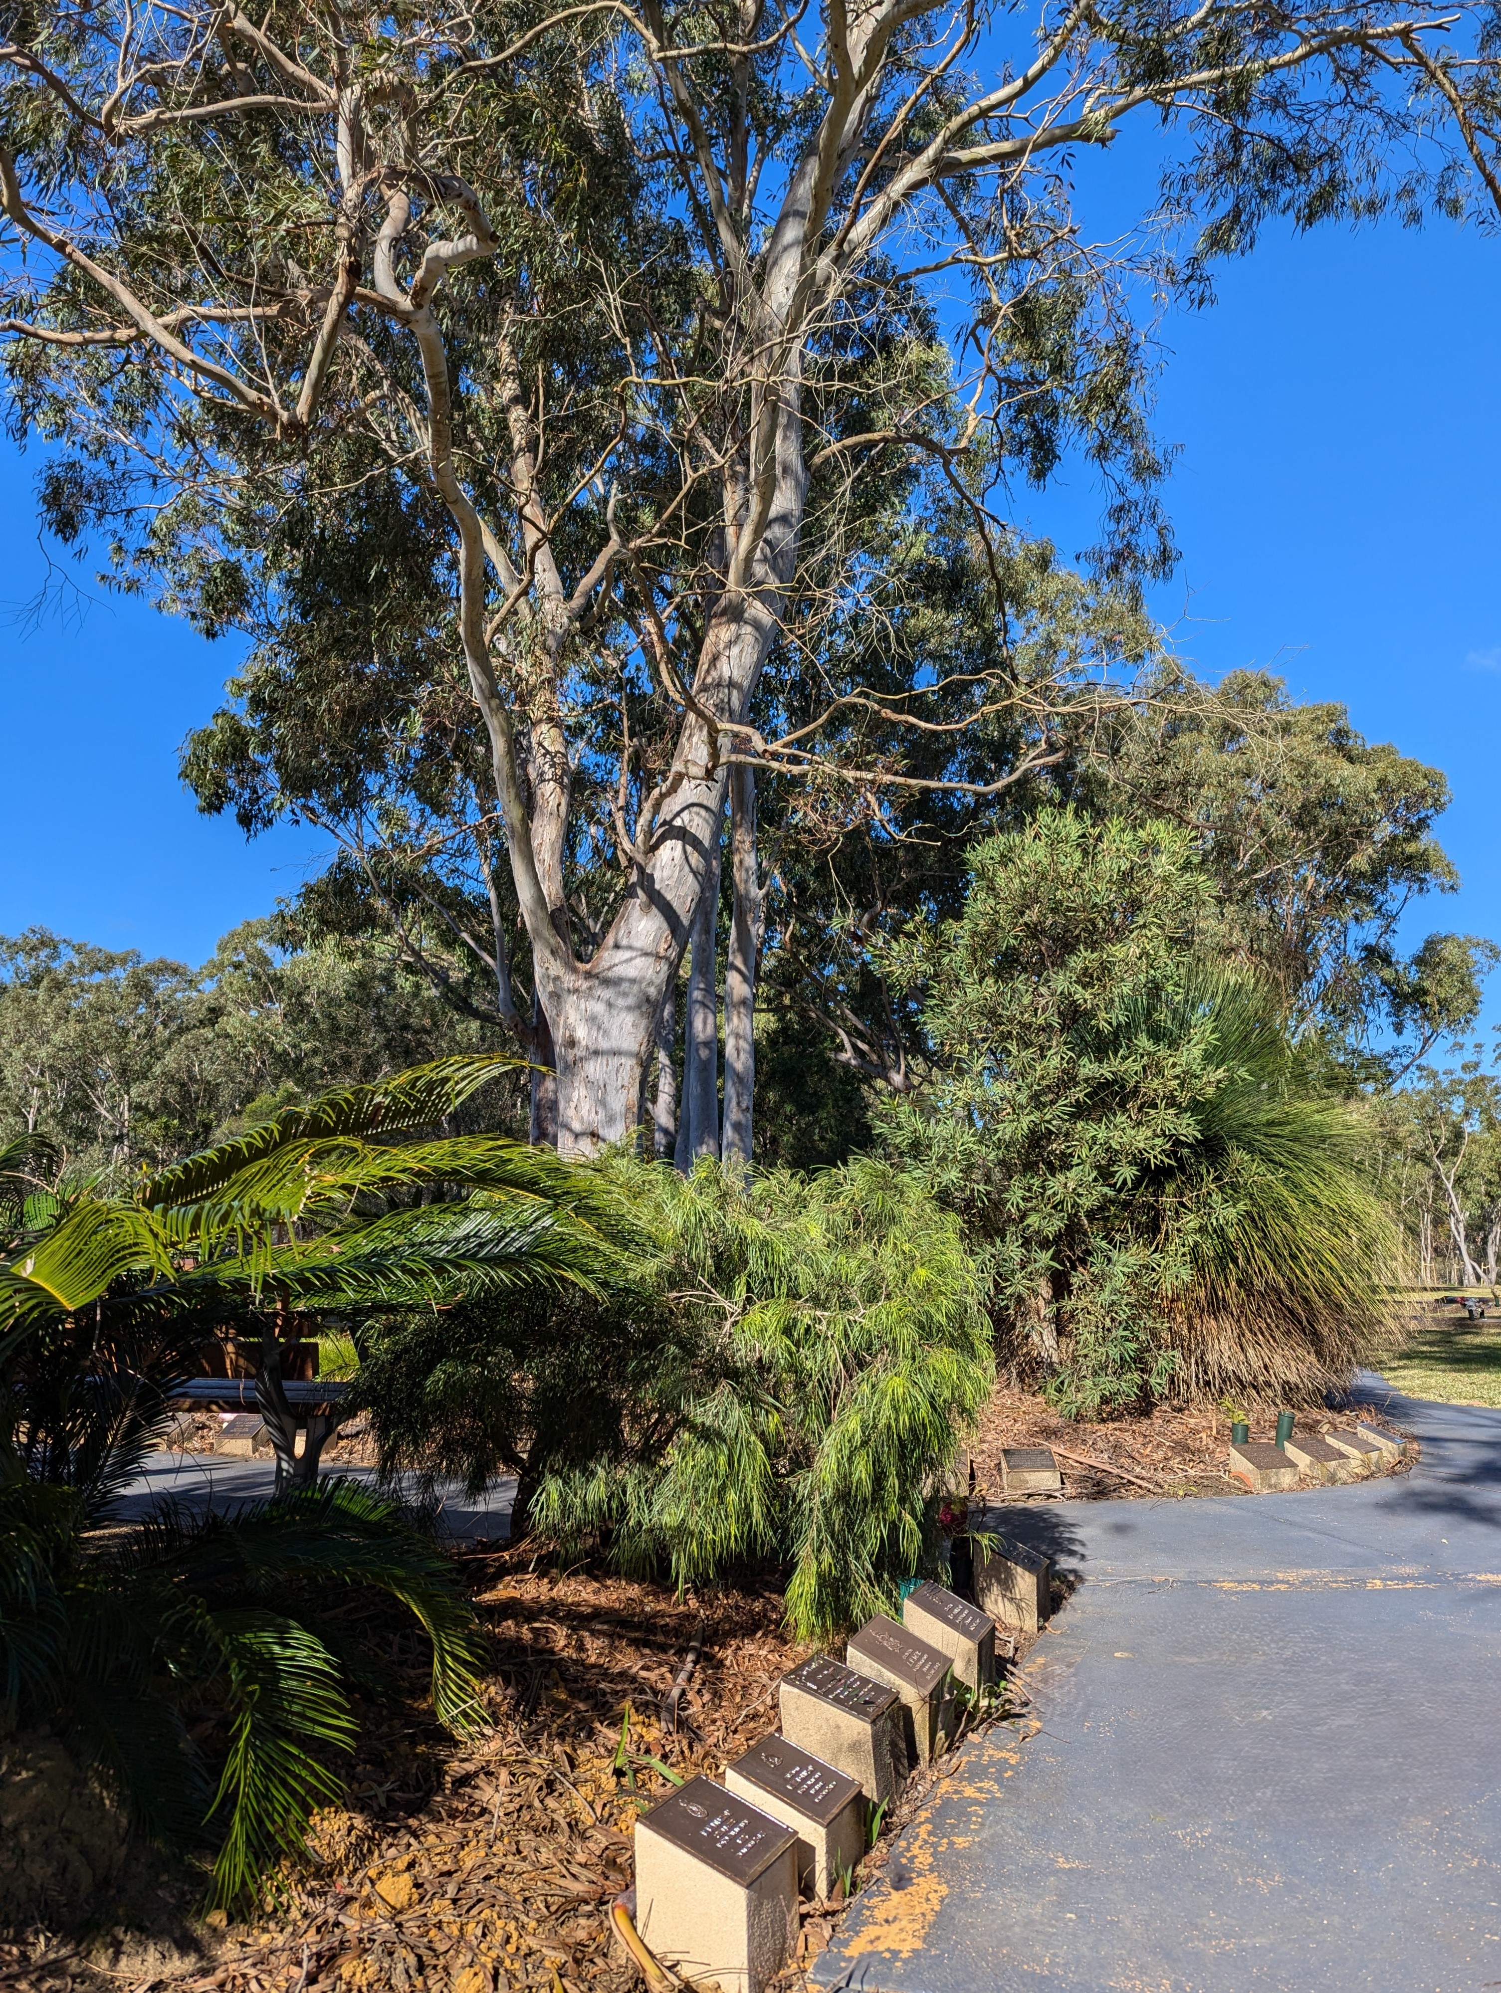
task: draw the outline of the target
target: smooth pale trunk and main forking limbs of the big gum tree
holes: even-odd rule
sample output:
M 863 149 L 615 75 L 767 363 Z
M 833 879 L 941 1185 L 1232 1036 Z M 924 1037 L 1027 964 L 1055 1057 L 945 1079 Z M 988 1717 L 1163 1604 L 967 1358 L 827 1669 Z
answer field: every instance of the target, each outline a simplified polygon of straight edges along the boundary
M 851 106 L 845 112 L 853 116 Z M 839 130 L 845 130 L 843 124 Z M 429 462 L 458 530 L 464 664 L 490 739 L 516 901 L 532 943 L 536 989 L 552 1026 L 558 1154 L 564 1156 L 594 1156 L 602 1146 L 634 1136 L 662 1000 L 708 893 L 710 869 L 718 867 L 728 787 L 722 753 L 734 747 L 734 727 L 750 712 L 797 566 L 807 498 L 801 341 L 811 295 L 809 257 L 827 211 L 827 169 L 841 143 L 825 134 L 825 142 L 803 153 L 763 251 L 763 281 L 753 307 L 761 345 L 746 379 L 751 423 L 746 448 L 724 470 L 724 584 L 708 612 L 692 688 L 676 680 L 670 652 L 656 650 L 664 688 L 682 706 L 678 743 L 666 779 L 632 831 L 630 889 L 588 961 L 574 953 L 562 899 L 570 761 L 558 688 L 568 634 L 592 606 L 598 584 L 586 576 L 572 596 L 562 584 L 538 490 L 540 438 L 526 413 L 514 361 L 504 355 L 510 484 L 544 658 L 510 654 L 504 644 L 500 656 L 492 650 L 488 574 L 494 572 L 504 588 L 516 588 L 518 570 L 454 468 L 452 379 L 433 297 L 449 269 L 494 255 L 498 239 L 472 191 L 454 181 L 458 191 L 452 197 L 470 233 L 429 245 L 411 289 L 403 289 L 395 251 L 411 225 L 411 197 L 405 189 L 387 197 L 387 219 L 375 249 L 375 287 L 401 313 L 423 361 Z M 596 562 L 600 578 L 612 558 L 606 550 L 602 564 Z M 510 678 L 506 692 L 496 670 L 502 660 Z M 718 1102 L 708 1128 L 694 1128 L 694 1154 L 716 1150 Z

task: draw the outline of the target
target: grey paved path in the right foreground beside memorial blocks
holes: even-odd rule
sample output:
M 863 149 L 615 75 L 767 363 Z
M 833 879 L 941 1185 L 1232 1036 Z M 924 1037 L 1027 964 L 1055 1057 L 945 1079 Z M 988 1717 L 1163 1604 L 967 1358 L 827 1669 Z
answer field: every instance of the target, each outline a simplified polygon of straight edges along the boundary
M 817 1981 L 1501 1987 L 1501 1411 L 1361 1385 L 1409 1475 L 1005 1511 L 1080 1580 L 1035 1720 L 959 1758 Z

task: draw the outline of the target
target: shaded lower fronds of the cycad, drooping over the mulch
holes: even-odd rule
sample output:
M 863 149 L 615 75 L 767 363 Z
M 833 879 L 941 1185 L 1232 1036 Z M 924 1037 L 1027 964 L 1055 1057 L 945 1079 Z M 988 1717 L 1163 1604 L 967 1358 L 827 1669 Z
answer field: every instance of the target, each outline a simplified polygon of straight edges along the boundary
M 72 1489 L 0 1467 L 0 1716 L 52 1724 L 167 1848 L 211 1863 L 233 1905 L 303 1844 L 357 1738 L 339 1592 L 407 1606 L 433 1644 L 433 1702 L 482 1720 L 480 1648 L 447 1561 L 349 1481 L 187 1515 L 165 1503 L 108 1545 Z M 359 1644 L 359 1628 L 353 1628 Z

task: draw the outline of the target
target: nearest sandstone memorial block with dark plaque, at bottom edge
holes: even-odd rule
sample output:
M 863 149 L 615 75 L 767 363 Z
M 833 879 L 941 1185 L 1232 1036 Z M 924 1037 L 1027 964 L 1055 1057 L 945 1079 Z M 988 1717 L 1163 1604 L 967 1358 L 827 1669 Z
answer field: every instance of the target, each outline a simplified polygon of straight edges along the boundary
M 684 1979 L 763 1993 L 797 1925 L 797 1836 L 712 1778 L 636 1822 L 636 1929 Z

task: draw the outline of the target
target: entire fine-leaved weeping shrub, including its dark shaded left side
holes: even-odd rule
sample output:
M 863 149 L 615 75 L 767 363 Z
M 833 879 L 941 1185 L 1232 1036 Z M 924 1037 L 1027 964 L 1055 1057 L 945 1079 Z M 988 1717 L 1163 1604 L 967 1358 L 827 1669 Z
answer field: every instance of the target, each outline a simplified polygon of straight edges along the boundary
M 684 1586 L 775 1563 L 809 1638 L 891 1608 L 993 1379 L 955 1218 L 879 1162 L 600 1174 L 634 1224 L 614 1287 L 371 1335 L 385 1469 L 508 1461 L 540 1535 Z

